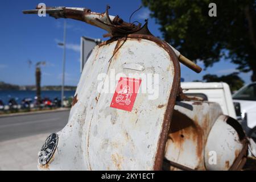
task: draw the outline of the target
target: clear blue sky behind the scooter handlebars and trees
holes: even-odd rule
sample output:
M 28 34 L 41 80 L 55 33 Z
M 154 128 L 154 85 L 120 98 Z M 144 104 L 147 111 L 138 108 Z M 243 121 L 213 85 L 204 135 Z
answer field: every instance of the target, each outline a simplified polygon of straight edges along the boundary
M 42 67 L 42 85 L 60 85 L 62 73 L 63 49 L 57 42 L 63 40 L 63 19 L 23 15 L 22 10 L 34 9 L 38 3 L 47 6 L 88 7 L 95 12 L 104 12 L 106 5 L 110 5 L 111 15 L 119 15 L 128 21 L 134 10 L 138 9 L 141 1 L 89 1 L 89 0 L 44 0 L 44 1 L 0 1 L 0 81 L 18 85 L 35 84 L 35 67 L 29 66 L 27 61 L 47 61 Z M 158 24 L 150 18 L 145 8 L 134 14 L 132 20 L 139 22 L 149 18 L 149 29 L 155 36 L 162 37 Z M 65 84 L 77 85 L 80 78 L 80 37 L 102 38 L 106 32 L 100 28 L 82 22 L 67 19 L 67 59 Z M 106 39 L 105 39 L 106 40 Z M 199 63 L 203 67 L 203 63 Z M 221 60 L 197 74 L 181 65 L 181 77 L 185 81 L 201 80 L 207 73 L 226 75 L 236 70 L 236 65 L 228 60 Z M 242 79 L 250 82 L 250 73 L 240 73 Z

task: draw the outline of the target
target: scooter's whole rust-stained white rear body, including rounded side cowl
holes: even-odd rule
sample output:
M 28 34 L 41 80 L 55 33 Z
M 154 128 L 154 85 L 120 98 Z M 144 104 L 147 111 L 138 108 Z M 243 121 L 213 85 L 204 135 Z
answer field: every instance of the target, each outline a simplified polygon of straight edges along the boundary
M 170 169 L 240 170 L 248 142 L 235 122 L 213 102 L 177 102 L 165 154 Z

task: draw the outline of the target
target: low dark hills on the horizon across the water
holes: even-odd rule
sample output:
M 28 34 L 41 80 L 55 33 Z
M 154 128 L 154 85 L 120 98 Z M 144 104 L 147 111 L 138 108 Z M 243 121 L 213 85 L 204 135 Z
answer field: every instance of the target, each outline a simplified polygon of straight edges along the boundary
M 13 84 L 7 84 L 3 81 L 0 81 L 0 90 L 36 90 L 36 87 L 34 85 L 24 85 L 24 86 L 19 86 L 19 85 L 13 85 Z M 46 86 L 41 86 L 42 91 L 47 91 L 47 90 L 56 90 L 59 91 L 61 90 L 61 85 L 46 85 Z M 76 86 L 65 86 L 64 90 L 76 90 Z

